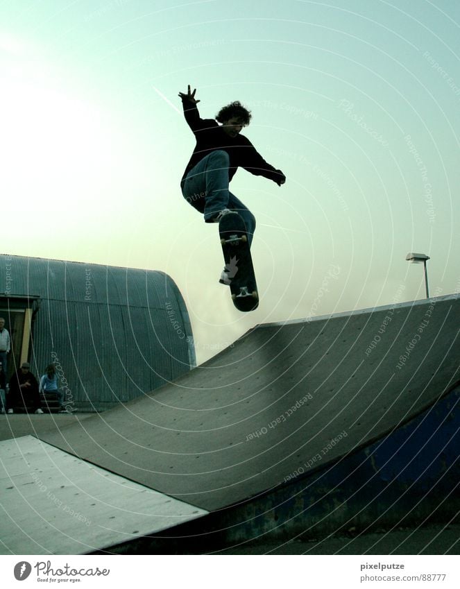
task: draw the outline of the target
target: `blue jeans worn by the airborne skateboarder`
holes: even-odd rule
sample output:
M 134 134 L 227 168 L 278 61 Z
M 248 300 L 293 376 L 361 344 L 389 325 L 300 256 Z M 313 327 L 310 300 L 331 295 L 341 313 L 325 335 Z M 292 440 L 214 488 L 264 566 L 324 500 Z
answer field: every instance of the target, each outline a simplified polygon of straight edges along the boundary
M 222 209 L 237 211 L 246 225 L 250 245 L 255 231 L 255 216 L 228 190 L 229 165 L 226 151 L 216 149 L 205 155 L 187 174 L 182 183 L 182 195 L 187 203 L 204 214 L 207 223 Z

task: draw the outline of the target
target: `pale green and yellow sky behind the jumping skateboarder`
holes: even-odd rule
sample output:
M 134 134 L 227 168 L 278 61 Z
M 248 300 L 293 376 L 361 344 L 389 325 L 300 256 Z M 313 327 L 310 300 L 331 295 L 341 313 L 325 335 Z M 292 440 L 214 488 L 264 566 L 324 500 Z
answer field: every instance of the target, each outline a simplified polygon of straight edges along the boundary
M 198 361 L 257 323 L 460 291 L 457 0 L 3 0 L 2 253 L 167 272 Z M 218 283 L 216 225 L 180 194 L 203 118 L 240 100 L 287 176 L 239 170 L 261 302 Z

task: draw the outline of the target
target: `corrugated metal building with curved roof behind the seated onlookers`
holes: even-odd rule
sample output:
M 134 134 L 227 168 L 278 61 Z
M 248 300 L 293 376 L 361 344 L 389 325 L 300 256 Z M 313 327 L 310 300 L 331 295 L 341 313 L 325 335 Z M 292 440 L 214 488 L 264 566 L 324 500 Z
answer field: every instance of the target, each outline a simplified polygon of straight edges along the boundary
M 8 373 L 54 362 L 67 401 L 102 410 L 195 366 L 185 302 L 165 273 L 0 255 Z

